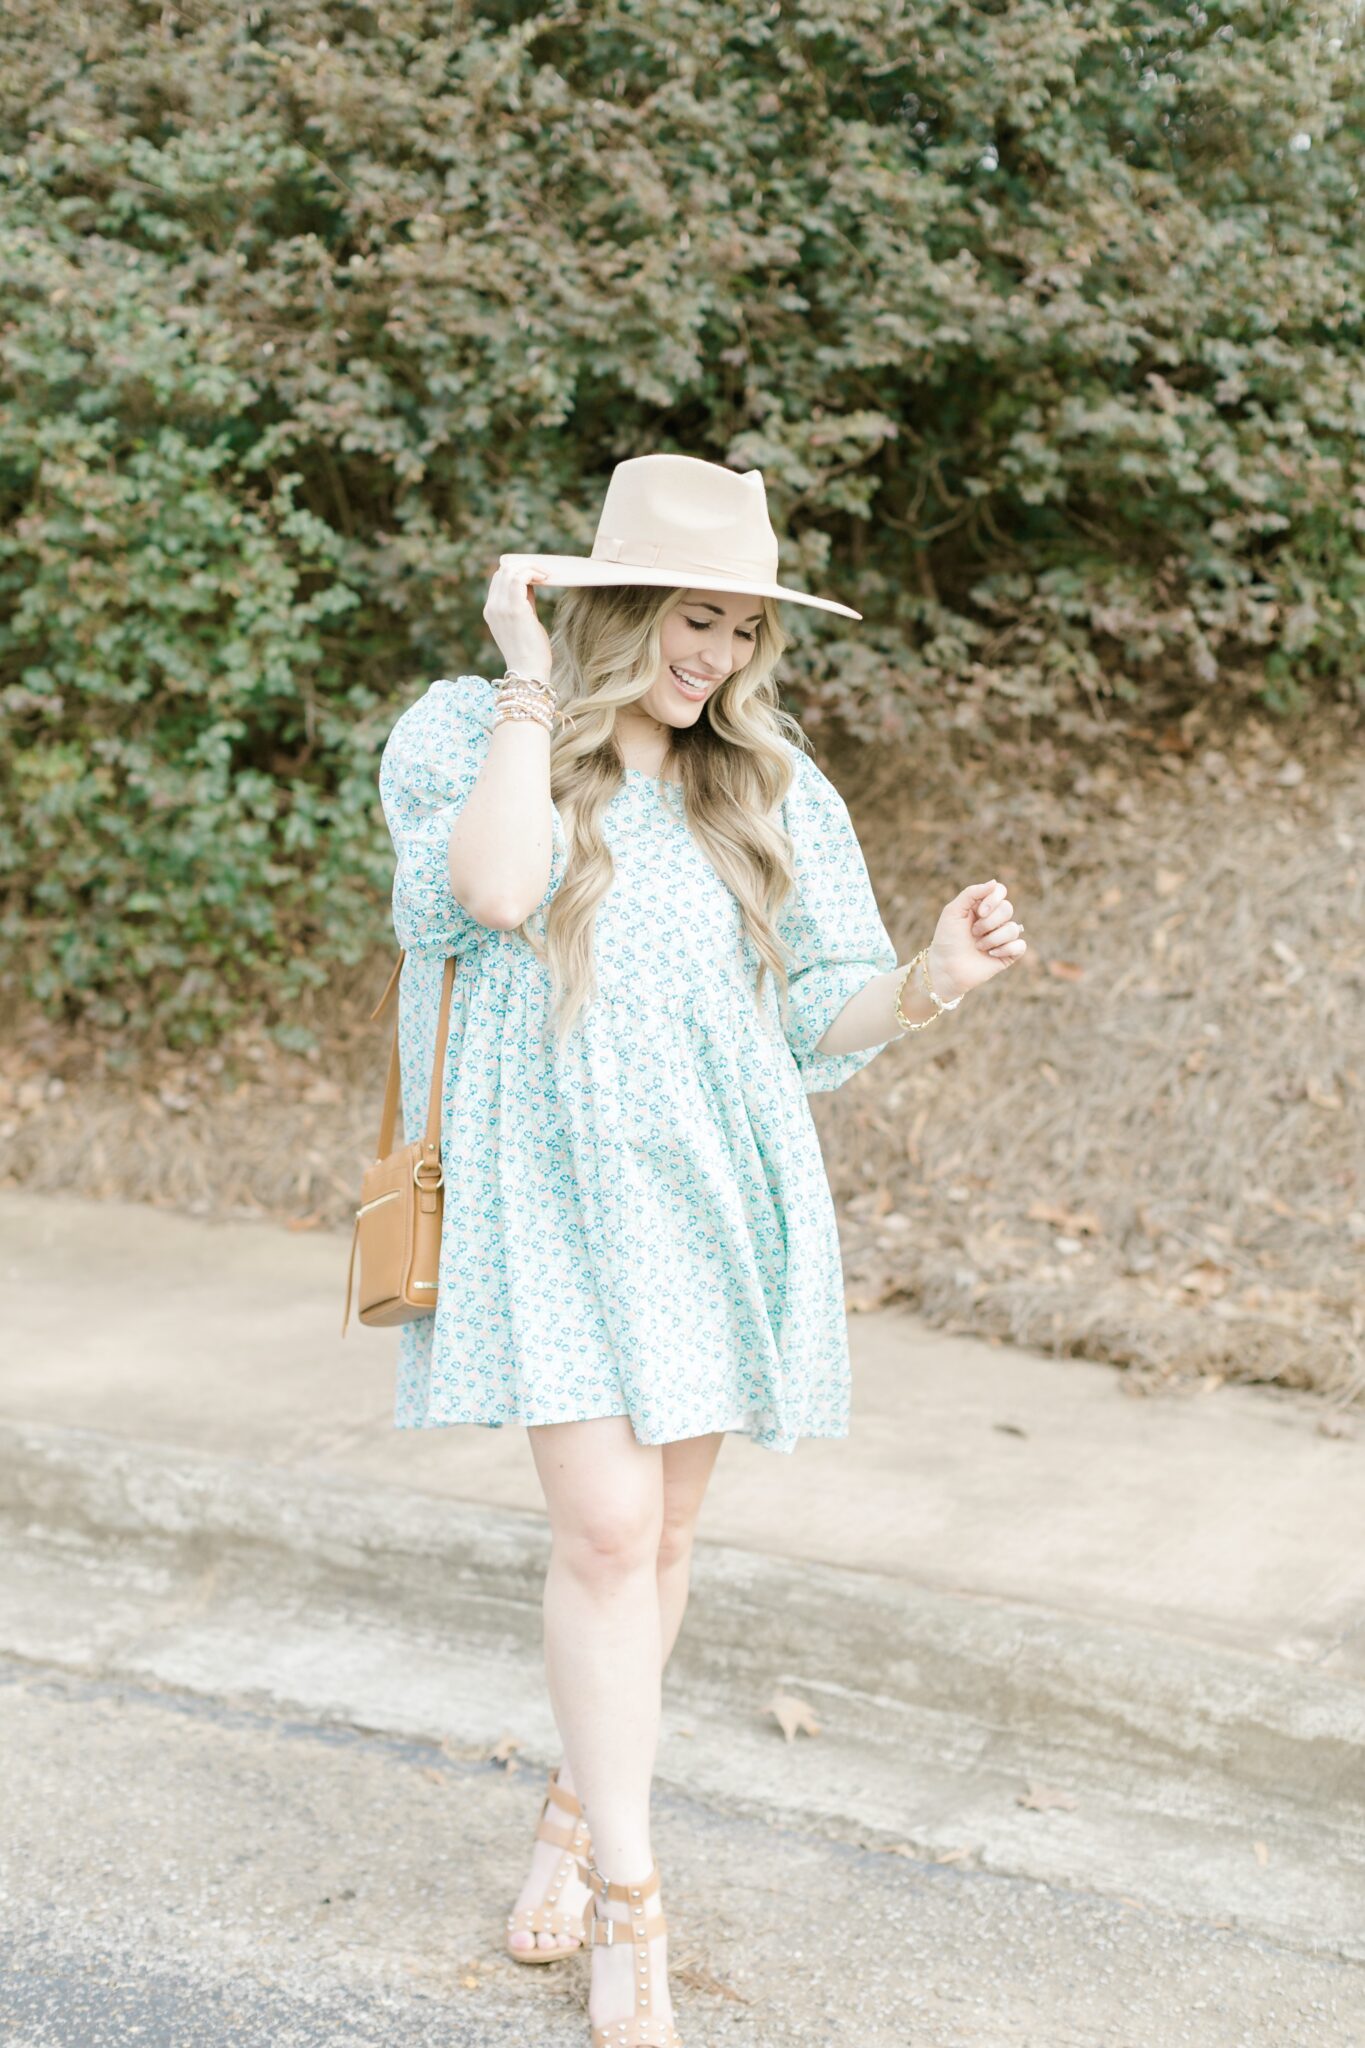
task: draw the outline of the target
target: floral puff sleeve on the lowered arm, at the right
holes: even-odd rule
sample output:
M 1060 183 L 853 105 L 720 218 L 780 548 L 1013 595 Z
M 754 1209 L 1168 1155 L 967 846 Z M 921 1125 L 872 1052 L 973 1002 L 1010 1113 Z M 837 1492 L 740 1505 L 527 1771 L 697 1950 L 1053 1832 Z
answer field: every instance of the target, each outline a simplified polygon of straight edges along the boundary
M 847 805 L 829 776 L 792 748 L 794 778 L 782 805 L 792 838 L 794 883 L 778 918 L 788 946 L 784 1036 L 806 1094 L 839 1087 L 898 1038 L 857 1053 L 817 1053 L 843 1006 L 874 975 L 890 973 L 896 948 L 872 893 L 872 879 Z

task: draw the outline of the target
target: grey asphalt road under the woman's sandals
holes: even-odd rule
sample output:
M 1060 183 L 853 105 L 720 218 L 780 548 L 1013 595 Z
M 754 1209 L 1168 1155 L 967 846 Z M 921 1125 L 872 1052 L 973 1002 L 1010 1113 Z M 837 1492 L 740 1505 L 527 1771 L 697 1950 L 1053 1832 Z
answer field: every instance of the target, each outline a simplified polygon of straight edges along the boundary
M 587 2048 L 499 1948 L 536 1767 L 0 1665 L 6 2048 Z M 1359 2048 L 1365 1968 L 661 1790 L 688 2048 Z

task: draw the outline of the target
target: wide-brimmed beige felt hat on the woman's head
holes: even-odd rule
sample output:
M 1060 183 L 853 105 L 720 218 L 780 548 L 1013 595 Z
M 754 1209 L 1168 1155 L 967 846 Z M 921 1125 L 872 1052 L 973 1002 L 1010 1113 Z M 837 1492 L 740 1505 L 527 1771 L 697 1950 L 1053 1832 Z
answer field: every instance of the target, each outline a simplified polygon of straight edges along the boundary
M 501 555 L 501 563 L 528 575 L 532 567 L 546 569 L 548 588 L 733 590 L 862 618 L 851 604 L 778 582 L 778 537 L 761 469 L 741 473 L 696 455 L 634 455 L 618 463 L 591 555 Z

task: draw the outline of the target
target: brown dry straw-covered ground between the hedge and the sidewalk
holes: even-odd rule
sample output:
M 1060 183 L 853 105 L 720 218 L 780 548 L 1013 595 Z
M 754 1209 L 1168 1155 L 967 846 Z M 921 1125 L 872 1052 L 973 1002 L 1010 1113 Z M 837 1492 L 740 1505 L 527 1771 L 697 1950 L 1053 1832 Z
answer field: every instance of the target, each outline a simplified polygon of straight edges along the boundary
M 1277 1380 L 1365 1399 L 1365 758 L 1187 719 L 1085 758 L 927 735 L 821 748 L 900 958 L 1003 879 L 1029 954 L 812 1098 L 849 1305 L 1130 1366 L 1136 1393 Z M 108 1067 L 10 1018 L 0 1184 L 348 1227 L 391 956 L 215 1055 Z M 323 1022 L 332 1012 L 332 1022 Z M 338 1266 L 338 1290 L 342 1286 Z

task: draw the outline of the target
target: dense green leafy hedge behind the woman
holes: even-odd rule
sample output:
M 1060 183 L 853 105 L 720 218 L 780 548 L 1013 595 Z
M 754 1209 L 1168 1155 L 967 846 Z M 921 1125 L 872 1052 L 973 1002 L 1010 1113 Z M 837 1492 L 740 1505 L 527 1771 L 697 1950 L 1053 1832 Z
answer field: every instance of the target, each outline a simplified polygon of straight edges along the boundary
M 810 723 L 1359 692 L 1328 6 L 0 25 L 0 973 L 215 1036 L 387 930 L 375 764 L 610 467 L 759 465 Z M 287 1030 L 287 1026 L 282 1026 Z

